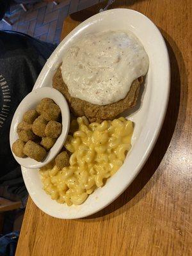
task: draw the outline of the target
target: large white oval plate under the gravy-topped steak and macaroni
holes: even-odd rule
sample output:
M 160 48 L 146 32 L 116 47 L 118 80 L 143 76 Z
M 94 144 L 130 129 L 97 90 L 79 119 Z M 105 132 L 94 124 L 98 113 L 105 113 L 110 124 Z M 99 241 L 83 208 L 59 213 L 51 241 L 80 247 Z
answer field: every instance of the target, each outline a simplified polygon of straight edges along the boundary
M 100 211 L 115 200 L 131 184 L 147 161 L 163 124 L 170 92 L 170 62 L 163 36 L 145 15 L 128 9 L 114 9 L 98 13 L 85 20 L 61 42 L 45 64 L 34 88 L 52 86 L 52 76 L 61 63 L 63 52 L 73 40 L 86 33 L 106 30 L 131 30 L 142 42 L 149 57 L 145 86 L 129 119 L 134 124 L 132 148 L 123 166 L 103 188 L 97 189 L 78 206 L 68 207 L 51 200 L 42 189 L 38 171 L 22 168 L 22 175 L 33 202 L 47 214 L 56 218 L 76 219 Z

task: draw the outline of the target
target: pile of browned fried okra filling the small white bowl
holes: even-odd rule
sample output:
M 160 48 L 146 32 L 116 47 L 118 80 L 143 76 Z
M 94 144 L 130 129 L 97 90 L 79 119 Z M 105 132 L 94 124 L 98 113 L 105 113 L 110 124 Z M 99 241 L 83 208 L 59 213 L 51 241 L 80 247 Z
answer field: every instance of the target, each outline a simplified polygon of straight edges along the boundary
M 16 156 L 42 161 L 61 134 L 61 110 L 52 99 L 44 98 L 36 109 L 26 111 L 22 118 L 17 125 L 19 140 L 13 143 L 12 150 Z

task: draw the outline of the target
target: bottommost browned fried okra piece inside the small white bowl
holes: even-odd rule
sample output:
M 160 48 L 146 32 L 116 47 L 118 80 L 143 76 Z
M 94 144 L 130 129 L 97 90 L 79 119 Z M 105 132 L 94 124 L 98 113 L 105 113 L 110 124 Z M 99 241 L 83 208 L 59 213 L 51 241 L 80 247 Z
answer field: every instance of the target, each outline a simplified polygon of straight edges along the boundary
M 47 155 L 45 148 L 31 140 L 24 145 L 23 152 L 26 154 L 26 156 L 31 157 L 38 162 L 42 161 Z

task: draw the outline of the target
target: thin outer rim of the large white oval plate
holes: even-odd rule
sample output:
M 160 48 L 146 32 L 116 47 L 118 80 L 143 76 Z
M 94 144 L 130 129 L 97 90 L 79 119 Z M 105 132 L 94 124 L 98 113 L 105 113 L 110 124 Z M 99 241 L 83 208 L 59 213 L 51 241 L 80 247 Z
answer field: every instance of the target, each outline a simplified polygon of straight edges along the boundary
M 122 189 L 118 194 L 116 194 L 116 196 L 114 196 L 109 202 L 108 204 L 104 204 L 100 207 L 97 208 L 97 210 L 93 210 L 93 211 L 87 211 L 84 214 L 80 214 L 79 216 L 72 216 L 70 218 L 70 216 L 65 216 L 65 218 L 63 218 L 63 216 L 61 216 L 60 214 L 52 214 L 49 209 L 42 209 L 41 205 L 38 204 L 38 202 L 36 201 L 36 198 L 33 198 L 33 195 L 31 195 L 31 193 L 29 193 L 29 195 L 31 196 L 33 202 L 38 206 L 39 209 L 41 209 L 42 211 L 44 211 L 45 213 L 55 217 L 55 218 L 61 218 L 61 219 L 78 219 L 78 218 L 84 218 L 86 216 L 90 216 L 96 212 L 101 211 L 102 209 L 104 209 L 105 207 L 107 207 L 109 204 L 111 204 L 111 202 L 115 201 L 116 198 L 118 198 L 118 196 L 120 196 L 122 193 L 124 193 L 125 189 L 127 189 L 129 187 L 129 185 L 132 183 L 132 181 L 136 178 L 136 176 L 140 173 L 141 168 L 143 168 L 144 164 L 147 162 L 148 157 L 150 156 L 154 146 L 156 145 L 156 141 L 157 138 L 159 136 L 159 133 L 161 132 L 161 128 L 163 126 L 163 122 L 164 122 L 164 117 L 166 115 L 166 110 L 167 110 L 167 106 L 168 106 L 168 100 L 169 100 L 169 95 L 170 95 L 170 59 L 169 59 L 169 54 L 168 54 L 168 49 L 166 47 L 166 43 L 164 41 L 163 35 L 161 35 L 161 32 L 159 31 L 159 29 L 157 28 L 156 24 L 154 24 L 154 22 L 152 22 L 152 20 L 148 19 L 147 16 L 143 15 L 143 13 L 137 12 L 135 10 L 131 10 L 131 9 L 127 9 L 127 8 L 116 8 L 116 9 L 112 9 L 112 10 L 107 10 L 104 11 L 102 13 L 113 13 L 113 12 L 132 12 L 132 13 L 137 13 L 138 15 L 141 15 L 144 19 L 146 19 L 148 22 L 150 22 L 150 24 L 152 26 L 154 26 L 154 29 L 156 29 L 157 33 L 159 34 L 159 39 L 161 38 L 161 42 L 164 45 L 164 54 L 166 56 L 166 64 L 167 64 L 167 83 L 166 86 L 164 88 L 166 88 L 166 92 L 164 92 L 164 102 L 163 102 L 163 108 L 161 109 L 161 111 L 159 112 L 159 119 L 158 119 L 158 124 L 156 125 L 156 131 L 153 133 L 153 136 L 150 140 L 150 143 L 148 143 L 148 147 L 147 150 L 145 151 L 145 154 L 143 154 L 143 158 L 140 159 L 140 163 L 138 164 L 137 168 L 134 169 L 134 172 L 131 173 L 131 178 L 129 179 L 129 182 L 127 182 L 127 186 L 124 187 L 124 189 Z M 84 25 L 84 23 L 88 22 L 89 20 L 93 19 L 93 17 L 97 16 L 97 15 L 102 15 L 102 13 L 97 13 L 95 15 L 93 15 L 92 17 L 90 17 L 89 19 L 84 20 L 84 22 L 82 22 L 81 24 L 79 24 L 76 28 L 74 28 L 63 40 L 67 41 L 68 38 L 70 38 L 70 35 L 72 33 L 75 33 L 76 31 L 79 31 L 79 28 L 81 29 L 81 27 Z M 61 42 L 63 42 L 63 40 Z M 60 49 L 60 47 L 64 47 L 63 45 L 65 45 L 65 41 L 63 42 L 63 44 L 59 44 L 58 47 L 56 47 L 55 51 L 58 51 Z M 52 52 L 51 56 L 49 58 L 52 58 L 54 56 L 54 52 Z M 40 88 L 37 87 L 38 83 L 43 83 L 43 81 L 41 81 L 41 77 L 42 75 L 45 75 L 46 73 L 48 73 L 50 71 L 50 67 L 48 68 L 47 65 L 49 64 L 49 59 L 47 60 L 47 62 L 45 63 L 44 67 L 42 68 L 42 71 L 40 72 L 40 75 L 38 76 L 38 79 L 36 80 L 35 86 L 33 87 L 33 90 L 35 90 L 36 88 Z M 26 184 L 26 188 L 28 189 L 29 192 L 29 188 L 28 188 L 28 184 L 25 180 L 25 176 L 24 176 L 24 169 L 27 168 L 22 168 L 22 175 L 24 178 L 24 182 Z M 32 193 L 33 194 L 33 193 Z M 78 214 L 77 214 L 78 215 Z

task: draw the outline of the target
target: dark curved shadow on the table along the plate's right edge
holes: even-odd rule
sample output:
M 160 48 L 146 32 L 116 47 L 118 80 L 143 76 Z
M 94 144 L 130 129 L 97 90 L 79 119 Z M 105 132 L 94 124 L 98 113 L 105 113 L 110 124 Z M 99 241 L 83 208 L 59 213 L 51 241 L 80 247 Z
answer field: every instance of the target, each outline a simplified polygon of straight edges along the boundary
M 106 207 L 102 211 L 97 212 L 96 214 L 93 214 L 92 216 L 88 216 L 84 219 L 81 219 L 81 221 L 100 218 L 102 216 L 106 216 L 107 214 L 110 214 L 111 212 L 114 213 L 113 216 L 116 216 L 120 214 L 119 211 L 116 211 L 120 209 L 120 207 L 123 207 L 122 212 L 127 211 L 127 209 L 132 207 L 132 205 L 137 204 L 141 200 L 141 198 L 143 198 L 143 196 L 145 196 L 148 193 L 148 191 L 150 191 L 152 186 L 156 183 L 156 180 L 159 179 L 161 172 L 156 173 L 156 180 L 154 182 L 150 182 L 150 184 L 148 184 L 145 190 L 143 189 L 143 187 L 145 186 L 145 184 L 147 184 L 148 180 L 150 180 L 152 175 L 154 175 L 164 155 L 166 154 L 166 151 L 168 150 L 168 146 L 170 144 L 170 141 L 172 140 L 173 132 L 175 131 L 175 125 L 177 124 L 177 117 L 179 115 L 179 107 L 180 107 L 179 125 L 181 125 L 181 127 L 177 127 L 177 133 L 175 135 L 177 136 L 177 139 L 175 140 L 175 143 L 177 143 L 177 140 L 179 140 L 180 132 L 182 131 L 182 125 L 184 124 L 184 121 L 185 121 L 186 104 L 188 100 L 188 79 L 186 74 L 186 68 L 184 65 L 184 60 L 182 58 L 182 54 L 179 48 L 177 47 L 175 42 L 172 40 L 172 38 L 169 35 L 167 35 L 162 29 L 161 29 L 161 33 L 163 34 L 164 39 L 166 41 L 166 45 L 168 47 L 168 52 L 170 56 L 171 86 L 170 86 L 170 97 L 168 102 L 168 109 L 164 119 L 163 127 L 159 134 L 159 138 L 157 139 L 156 145 L 152 150 L 152 153 L 150 154 L 150 157 L 148 158 L 147 163 L 145 163 L 145 166 L 142 168 L 141 172 L 138 174 L 136 179 L 134 179 L 134 181 L 129 186 L 129 188 L 127 188 L 125 192 L 122 195 L 120 195 L 108 207 Z M 182 74 L 183 74 L 182 77 L 180 77 L 179 66 L 182 70 Z M 182 82 L 182 88 L 180 87 L 181 82 Z M 161 86 L 161 84 L 159 86 Z M 181 106 L 180 106 L 180 90 L 182 90 Z M 174 147 L 174 144 L 172 147 Z M 170 152 L 168 152 L 168 156 L 166 157 L 169 157 L 169 154 L 171 157 L 171 154 L 172 154 L 171 149 L 170 149 Z M 142 189 L 143 191 L 142 193 L 140 193 Z M 134 198 L 134 196 L 136 196 L 136 198 Z M 132 198 L 135 199 L 134 202 L 132 202 L 132 204 L 129 204 L 125 208 L 124 205 L 126 205 L 129 201 L 131 201 Z M 113 218 L 113 216 L 110 216 L 110 217 Z

